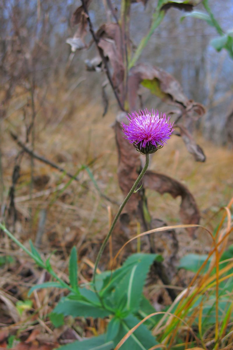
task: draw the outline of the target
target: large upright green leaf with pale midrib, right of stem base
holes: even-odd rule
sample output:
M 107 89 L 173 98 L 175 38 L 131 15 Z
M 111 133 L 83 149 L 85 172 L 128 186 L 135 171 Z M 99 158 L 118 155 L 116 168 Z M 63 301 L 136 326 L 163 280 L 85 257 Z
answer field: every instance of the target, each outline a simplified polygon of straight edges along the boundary
M 136 311 L 139 308 L 142 297 L 142 289 L 149 272 L 150 265 L 153 261 L 161 261 L 162 256 L 159 254 L 143 254 L 137 253 L 131 255 L 122 267 L 130 266 L 130 270 L 118 283 L 115 293 L 115 306 L 118 308 L 122 301 L 125 303 L 124 309 Z

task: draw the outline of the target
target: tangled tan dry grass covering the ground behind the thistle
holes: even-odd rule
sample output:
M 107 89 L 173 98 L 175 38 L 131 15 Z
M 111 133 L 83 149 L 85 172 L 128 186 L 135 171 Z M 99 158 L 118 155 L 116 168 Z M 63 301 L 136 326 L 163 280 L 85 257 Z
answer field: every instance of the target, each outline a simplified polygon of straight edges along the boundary
M 43 91 L 38 89 L 36 94 L 38 100 L 42 100 Z M 51 93 L 43 104 L 36 106 L 34 152 L 58 164 L 65 172 L 59 172 L 43 162 L 34 160 L 33 191 L 30 193 L 31 159 L 24 153 L 20 162 L 20 177 L 14 192 L 17 218 L 14 221 L 7 211 L 4 217 L 9 229 L 14 231 L 15 236 L 26 246 L 31 239 L 37 241 L 40 251 L 47 256 L 56 250 L 52 264 L 56 266 L 57 271 L 61 271 L 62 277 L 67 281 L 68 256 L 71 247 L 76 245 L 80 260 L 79 278 L 85 283 L 92 275 L 93 261 L 100 242 L 107 233 L 110 216 L 117 210 L 114 202 L 121 202 L 122 195 L 118 187 L 117 151 L 111 128 L 117 113 L 116 105 L 110 106 L 107 116 L 103 119 L 103 107 L 98 100 L 87 101 L 81 91 L 75 91 L 75 94 L 75 98 L 74 95 L 72 99 L 64 98 L 65 93 L 57 91 L 57 94 Z M 28 93 L 19 90 L 18 96 L 9 104 L 7 117 L 1 127 L 5 186 L 2 213 L 3 208 L 9 206 L 8 190 L 12 185 L 15 159 L 21 151 L 9 132 L 16 133 L 23 141 L 30 113 Z M 214 145 L 200 135 L 198 142 L 205 150 L 205 163 L 195 163 L 186 152 L 182 141 L 173 136 L 169 144 L 153 156 L 150 168 L 172 175 L 184 183 L 195 196 L 202 216 L 201 224 L 214 231 L 221 215 L 218 212 L 219 208 L 225 206 L 232 196 L 233 154 L 231 149 Z M 30 148 L 30 144 L 28 147 Z M 88 169 L 82 168 L 87 165 Z M 76 174 L 77 171 L 78 181 L 70 180 L 66 176 L 68 172 Z M 169 195 L 161 197 L 156 193 L 147 195 L 149 209 L 154 216 L 169 225 L 179 223 L 179 198 L 174 200 Z M 135 223 L 130 235 L 136 235 L 138 229 Z M 177 239 L 178 257 L 187 252 L 209 252 L 210 240 L 203 235 L 203 231 L 197 231 L 196 239 L 181 231 Z M 125 238 L 116 231 L 113 241 L 115 250 L 124 242 Z M 1 326 L 7 329 L 4 330 L 5 333 L 0 333 L 2 347 L 5 347 L 4 339 L 9 334 L 16 334 L 21 340 L 27 340 L 31 334 L 27 346 L 41 344 L 42 338 L 54 346 L 58 338 L 62 343 L 67 339 L 77 338 L 77 334 L 90 336 L 105 329 L 106 321 L 99 320 L 96 324 L 93 320 L 79 320 L 72 324 L 72 328 L 68 324 L 52 331 L 46 315 L 61 296 L 61 292 L 56 290 L 52 297 L 49 297 L 46 290 L 35 292 L 33 311 L 29 313 L 26 309 L 19 317 L 15 307 L 17 301 L 27 300 L 28 288 L 36 281 L 46 281 L 49 276 L 34 267 L 30 259 L 15 248 L 8 238 L 2 236 L 1 254 L 15 257 L 14 261 L 19 262 L 9 262 L 1 268 Z M 103 262 L 107 264 L 108 261 L 109 253 L 106 251 Z M 182 283 L 185 283 L 185 279 L 186 282 L 189 281 L 188 273 Z M 150 290 L 148 287 L 150 297 L 156 298 L 154 303 L 159 304 L 161 293 L 151 293 Z M 166 297 L 163 297 L 162 304 L 166 304 Z M 25 345 L 23 349 L 25 348 L 30 347 Z

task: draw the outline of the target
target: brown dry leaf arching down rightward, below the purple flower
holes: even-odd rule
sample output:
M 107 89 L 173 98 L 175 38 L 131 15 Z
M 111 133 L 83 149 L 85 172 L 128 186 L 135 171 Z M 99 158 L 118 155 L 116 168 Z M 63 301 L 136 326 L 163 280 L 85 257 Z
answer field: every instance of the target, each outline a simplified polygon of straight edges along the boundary
M 155 190 L 160 194 L 169 193 L 173 198 L 181 196 L 179 215 L 183 224 L 198 224 L 200 213 L 193 195 L 182 183 L 171 177 L 147 171 L 143 177 L 143 187 Z M 189 229 L 193 233 L 195 228 Z

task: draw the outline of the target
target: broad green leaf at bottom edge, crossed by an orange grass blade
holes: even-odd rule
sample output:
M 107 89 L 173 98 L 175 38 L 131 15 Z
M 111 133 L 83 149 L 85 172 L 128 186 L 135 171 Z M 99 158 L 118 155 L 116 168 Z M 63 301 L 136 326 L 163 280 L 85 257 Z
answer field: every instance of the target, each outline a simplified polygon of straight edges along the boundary
M 114 346 L 116 346 L 119 341 L 126 335 L 126 333 L 132 329 L 140 321 L 133 315 L 129 315 L 120 321 L 120 327 L 117 336 L 113 339 Z M 158 342 L 151 335 L 151 332 L 147 329 L 144 324 L 141 324 L 132 335 L 126 340 L 126 342 L 121 345 L 121 350 L 148 350 Z M 158 348 L 158 350 L 162 350 Z

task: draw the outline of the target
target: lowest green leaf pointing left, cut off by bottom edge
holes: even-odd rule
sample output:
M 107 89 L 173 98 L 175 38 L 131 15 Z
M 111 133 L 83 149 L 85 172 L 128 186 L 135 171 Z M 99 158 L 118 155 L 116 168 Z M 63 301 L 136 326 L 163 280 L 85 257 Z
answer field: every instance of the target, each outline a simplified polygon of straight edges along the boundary
M 105 335 L 99 335 L 83 341 L 75 341 L 71 344 L 57 348 L 59 350 L 112 350 L 113 341 L 106 342 Z

